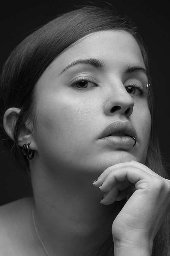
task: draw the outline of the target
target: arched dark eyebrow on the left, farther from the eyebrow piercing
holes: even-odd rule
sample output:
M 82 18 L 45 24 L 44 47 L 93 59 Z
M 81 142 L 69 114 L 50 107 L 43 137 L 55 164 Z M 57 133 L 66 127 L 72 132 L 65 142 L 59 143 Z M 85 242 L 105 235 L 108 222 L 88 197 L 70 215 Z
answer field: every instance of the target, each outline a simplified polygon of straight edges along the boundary
M 67 70 L 68 68 L 71 68 L 75 65 L 78 65 L 78 64 L 89 64 L 89 65 L 92 65 L 94 66 L 95 68 L 98 68 L 98 69 L 101 69 L 101 68 L 104 68 L 104 63 L 99 60 L 99 59 L 94 59 L 94 58 L 90 58 L 90 59 L 79 59 L 79 60 L 76 60 L 74 62 L 72 62 L 71 64 L 69 64 L 61 73 L 60 75 L 65 71 Z

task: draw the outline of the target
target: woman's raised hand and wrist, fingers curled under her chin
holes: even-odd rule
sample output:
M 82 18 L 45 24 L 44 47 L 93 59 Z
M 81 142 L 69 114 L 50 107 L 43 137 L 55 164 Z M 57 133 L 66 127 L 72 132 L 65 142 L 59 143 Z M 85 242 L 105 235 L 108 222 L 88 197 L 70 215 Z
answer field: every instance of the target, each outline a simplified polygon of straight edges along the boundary
M 132 194 L 113 222 L 115 255 L 151 255 L 153 239 L 170 211 L 170 181 L 129 161 L 107 168 L 94 185 L 105 192 L 101 203 L 106 205 Z

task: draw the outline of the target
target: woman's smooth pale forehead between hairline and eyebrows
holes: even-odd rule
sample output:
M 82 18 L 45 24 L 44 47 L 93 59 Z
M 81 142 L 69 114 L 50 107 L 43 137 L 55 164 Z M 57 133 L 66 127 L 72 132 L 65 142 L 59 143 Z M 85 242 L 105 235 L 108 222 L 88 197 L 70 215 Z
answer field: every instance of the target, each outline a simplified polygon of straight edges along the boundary
M 98 58 L 105 67 L 112 69 L 122 66 L 141 66 L 145 68 L 143 57 L 138 43 L 134 37 L 126 31 L 108 30 L 86 35 L 67 48 L 50 64 L 48 69 L 57 67 L 62 70 L 78 59 Z

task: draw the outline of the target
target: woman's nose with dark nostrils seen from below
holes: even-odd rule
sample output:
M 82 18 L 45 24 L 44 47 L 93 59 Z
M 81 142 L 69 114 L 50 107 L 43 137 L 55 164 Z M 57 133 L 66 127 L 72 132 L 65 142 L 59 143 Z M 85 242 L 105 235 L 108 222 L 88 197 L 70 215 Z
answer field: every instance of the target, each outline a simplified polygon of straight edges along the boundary
M 133 113 L 133 107 L 134 100 L 122 84 L 117 86 L 117 88 L 112 88 L 112 91 L 109 91 L 107 102 L 104 106 L 104 112 L 106 115 L 119 113 L 130 117 Z

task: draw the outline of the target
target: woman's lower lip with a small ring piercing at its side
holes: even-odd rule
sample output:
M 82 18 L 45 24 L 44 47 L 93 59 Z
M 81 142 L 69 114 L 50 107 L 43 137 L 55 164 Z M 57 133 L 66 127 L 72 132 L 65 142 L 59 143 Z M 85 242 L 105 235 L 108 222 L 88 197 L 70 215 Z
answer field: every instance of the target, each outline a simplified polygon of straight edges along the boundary
M 107 142 L 117 149 L 130 149 L 133 147 L 135 141 L 129 136 L 108 136 L 102 139 L 103 142 Z

